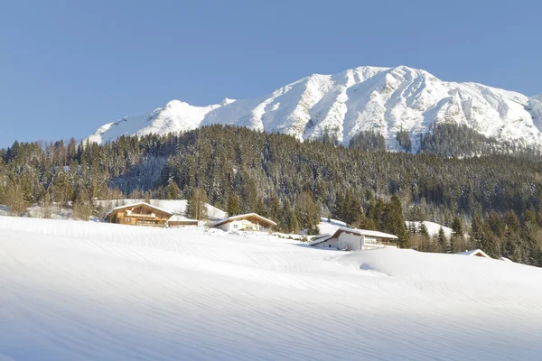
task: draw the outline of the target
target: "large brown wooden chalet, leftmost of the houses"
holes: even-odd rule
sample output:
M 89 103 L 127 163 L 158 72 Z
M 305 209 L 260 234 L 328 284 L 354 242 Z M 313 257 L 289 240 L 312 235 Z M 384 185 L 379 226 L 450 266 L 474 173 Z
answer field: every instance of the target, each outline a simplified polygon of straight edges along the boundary
M 138 202 L 111 209 L 105 219 L 121 225 L 165 227 L 172 216 L 168 210 Z

